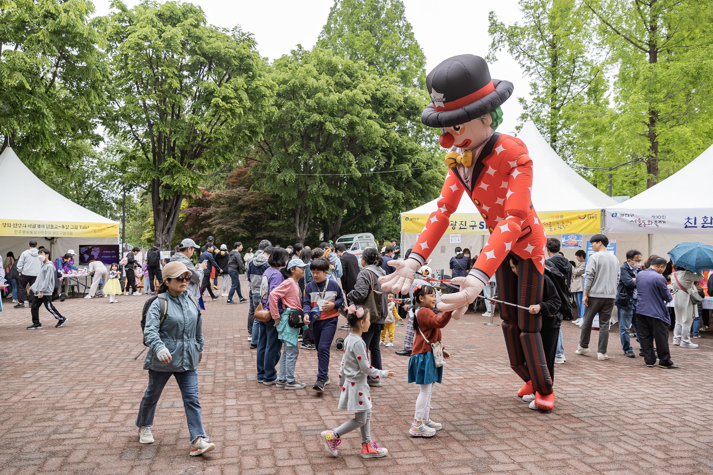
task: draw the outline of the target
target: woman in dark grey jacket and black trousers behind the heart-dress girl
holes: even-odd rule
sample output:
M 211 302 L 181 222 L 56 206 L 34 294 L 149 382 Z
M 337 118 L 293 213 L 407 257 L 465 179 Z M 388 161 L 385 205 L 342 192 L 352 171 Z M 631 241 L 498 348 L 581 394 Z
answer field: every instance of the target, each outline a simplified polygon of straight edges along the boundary
M 347 298 L 354 303 L 363 303 L 369 297 L 371 289 L 381 292 L 379 285 L 379 277 L 386 275 L 384 269 L 381 268 L 383 260 L 376 249 L 367 247 L 361 254 L 361 267 L 363 269 L 356 276 L 354 290 L 347 294 Z M 386 293 L 381 295 L 381 314 L 379 319 L 369 325 L 369 330 L 361 334 L 361 338 L 366 343 L 366 350 L 371 355 L 369 362 L 371 366 L 377 370 L 381 370 L 381 349 L 379 348 L 379 340 L 381 340 L 381 330 L 384 330 L 384 322 L 386 322 L 386 312 L 389 309 L 389 304 L 386 302 Z M 369 376 L 366 381 L 371 387 L 381 387 L 381 381 L 371 379 Z

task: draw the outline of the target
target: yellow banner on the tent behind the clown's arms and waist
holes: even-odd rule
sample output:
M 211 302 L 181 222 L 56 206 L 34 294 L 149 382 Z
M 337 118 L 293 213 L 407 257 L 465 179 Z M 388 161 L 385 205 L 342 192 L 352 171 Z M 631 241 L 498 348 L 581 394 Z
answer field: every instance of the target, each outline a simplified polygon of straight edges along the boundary
M 600 232 L 601 212 L 598 209 L 583 212 L 538 213 L 547 234 L 597 234 Z M 401 229 L 405 233 L 420 233 L 428 222 L 429 214 L 401 214 Z M 490 234 L 480 214 L 454 214 L 446 233 Z

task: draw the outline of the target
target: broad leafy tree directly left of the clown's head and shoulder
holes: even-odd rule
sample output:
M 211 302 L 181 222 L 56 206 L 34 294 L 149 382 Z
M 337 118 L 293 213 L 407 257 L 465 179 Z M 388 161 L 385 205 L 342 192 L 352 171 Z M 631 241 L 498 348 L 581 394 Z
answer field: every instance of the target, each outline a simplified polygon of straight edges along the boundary
M 430 183 L 440 178 L 441 160 L 424 147 L 435 136 L 418 120 L 421 91 L 319 48 L 277 59 L 272 79 L 275 109 L 250 157 L 258 163 L 252 189 L 294 210 L 298 241 L 312 220 L 334 239 L 361 216 L 399 209 L 410 194 L 437 196 Z

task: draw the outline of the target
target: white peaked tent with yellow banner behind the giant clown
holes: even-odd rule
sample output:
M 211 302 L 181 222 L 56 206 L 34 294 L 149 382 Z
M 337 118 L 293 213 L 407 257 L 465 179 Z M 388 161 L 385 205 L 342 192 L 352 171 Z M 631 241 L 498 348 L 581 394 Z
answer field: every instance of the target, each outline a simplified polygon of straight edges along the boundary
M 525 122 L 518 138 L 525 142 L 533 160 L 533 205 L 548 236 L 560 239 L 562 234 L 582 234 L 583 239 L 588 239 L 600 232 L 602 212 L 617 202 L 571 169 L 532 121 Z M 426 219 L 436 211 L 437 201 L 434 199 L 401 213 L 401 249 L 416 244 Z M 447 269 L 456 246 L 467 247 L 471 255 L 476 256 L 487 239 L 485 221 L 466 194 L 461 197 L 458 210 L 451 215 L 448 232 L 452 234 L 444 234 L 429 258 L 432 268 Z M 568 259 L 574 259 L 576 249 L 563 251 Z

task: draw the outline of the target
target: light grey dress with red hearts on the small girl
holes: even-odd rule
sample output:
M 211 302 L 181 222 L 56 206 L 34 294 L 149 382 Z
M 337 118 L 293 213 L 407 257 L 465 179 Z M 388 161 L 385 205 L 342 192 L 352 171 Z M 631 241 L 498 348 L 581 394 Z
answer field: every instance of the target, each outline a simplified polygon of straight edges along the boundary
M 361 337 L 349 333 L 344 338 L 344 356 L 339 370 L 339 409 L 349 412 L 364 412 L 371 409 L 371 395 L 366 375 L 376 380 L 386 378 L 386 370 L 377 370 L 369 365 L 366 357 L 366 343 Z

